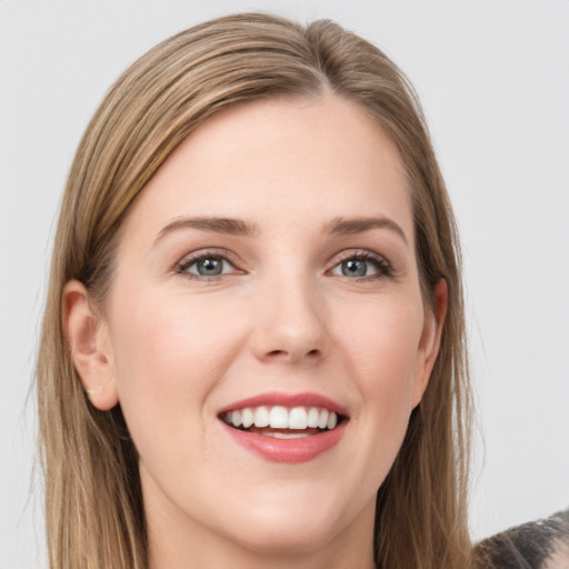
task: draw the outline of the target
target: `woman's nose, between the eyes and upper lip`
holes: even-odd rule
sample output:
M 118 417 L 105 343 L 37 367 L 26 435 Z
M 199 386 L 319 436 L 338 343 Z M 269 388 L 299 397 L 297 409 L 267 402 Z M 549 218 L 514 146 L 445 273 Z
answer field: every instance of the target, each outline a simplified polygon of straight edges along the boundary
M 272 279 L 258 290 L 251 347 L 262 361 L 318 362 L 329 347 L 327 307 L 307 279 Z

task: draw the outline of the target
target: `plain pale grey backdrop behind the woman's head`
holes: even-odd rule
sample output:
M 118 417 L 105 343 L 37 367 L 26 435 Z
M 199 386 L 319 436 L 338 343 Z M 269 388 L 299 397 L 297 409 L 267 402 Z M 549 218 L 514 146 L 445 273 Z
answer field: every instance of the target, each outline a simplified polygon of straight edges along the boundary
M 0 0 L 0 568 L 46 567 L 30 383 L 60 193 L 110 83 L 228 12 L 331 18 L 422 99 L 461 231 L 481 538 L 569 506 L 569 1 Z

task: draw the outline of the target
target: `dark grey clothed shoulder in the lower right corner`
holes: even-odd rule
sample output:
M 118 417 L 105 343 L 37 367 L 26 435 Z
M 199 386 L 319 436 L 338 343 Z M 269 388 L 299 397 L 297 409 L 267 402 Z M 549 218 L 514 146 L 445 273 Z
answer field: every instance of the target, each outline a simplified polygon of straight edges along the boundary
M 488 569 L 569 569 L 569 509 L 487 538 L 475 551 Z

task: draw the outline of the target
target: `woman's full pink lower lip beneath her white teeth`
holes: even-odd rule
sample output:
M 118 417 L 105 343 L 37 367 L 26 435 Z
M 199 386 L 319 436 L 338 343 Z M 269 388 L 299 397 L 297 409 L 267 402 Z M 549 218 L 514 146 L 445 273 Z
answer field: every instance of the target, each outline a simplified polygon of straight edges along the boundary
M 348 421 L 342 421 L 331 431 L 325 431 L 300 439 L 276 439 L 256 432 L 240 431 L 224 423 L 223 428 L 234 442 L 253 455 L 272 462 L 297 465 L 299 462 L 308 462 L 338 445 L 346 432 L 347 422 Z

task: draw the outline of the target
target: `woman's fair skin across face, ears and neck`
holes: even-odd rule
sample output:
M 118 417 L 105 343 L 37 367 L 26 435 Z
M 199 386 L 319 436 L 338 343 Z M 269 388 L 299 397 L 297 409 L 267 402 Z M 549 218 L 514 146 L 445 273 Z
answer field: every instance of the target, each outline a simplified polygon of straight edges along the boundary
M 189 217 L 253 231 L 164 231 Z M 330 232 L 370 217 L 391 226 Z M 423 306 L 413 239 L 401 160 L 362 110 L 332 94 L 252 102 L 203 123 L 137 198 L 103 310 L 68 283 L 76 367 L 92 405 L 120 401 L 140 453 L 151 569 L 373 567 L 376 493 L 446 309 L 443 281 Z M 229 259 L 222 274 L 188 268 L 203 250 Z M 343 274 L 363 251 L 391 273 L 365 260 Z M 217 415 L 268 391 L 338 401 L 345 436 L 297 465 L 241 448 Z

